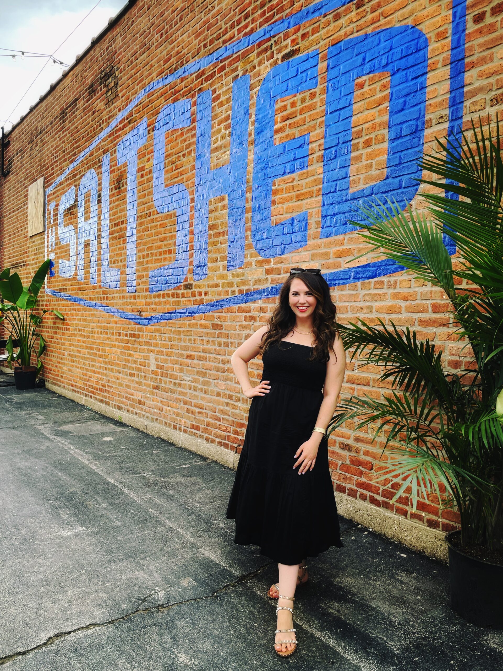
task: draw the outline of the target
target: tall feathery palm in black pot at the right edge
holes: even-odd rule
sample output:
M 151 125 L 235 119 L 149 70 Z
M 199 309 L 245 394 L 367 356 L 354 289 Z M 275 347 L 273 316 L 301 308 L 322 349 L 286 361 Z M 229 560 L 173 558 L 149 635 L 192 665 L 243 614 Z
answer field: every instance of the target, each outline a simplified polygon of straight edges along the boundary
M 327 433 L 348 419 L 356 429 L 374 424 L 374 438 L 384 435 L 382 475 L 396 489 L 393 501 L 407 495 L 415 509 L 419 497 L 434 497 L 457 508 L 461 530 L 446 536 L 451 606 L 472 623 L 500 629 L 503 162 L 498 119 L 496 137 L 488 128 L 484 133 L 481 121 L 478 127 L 471 121 L 473 141 L 464 132 L 459 140 L 437 139 L 439 152 L 419 160 L 432 175 L 421 182 L 437 187 L 421 194 L 425 210 L 366 202 L 364 223 L 351 222 L 372 251 L 443 289 L 464 356 L 471 356 L 467 370 L 446 370 L 441 348 L 392 322 L 341 325 L 351 360 L 382 366 L 380 379 L 392 384 L 381 399 L 353 395 L 341 403 Z M 452 241 L 459 252 L 454 262 Z

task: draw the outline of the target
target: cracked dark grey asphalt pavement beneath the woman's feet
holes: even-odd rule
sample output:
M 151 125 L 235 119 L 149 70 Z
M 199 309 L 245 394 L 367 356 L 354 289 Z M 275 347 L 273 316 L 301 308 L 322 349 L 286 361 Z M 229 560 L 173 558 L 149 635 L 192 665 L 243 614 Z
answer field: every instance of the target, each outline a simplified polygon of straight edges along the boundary
M 233 470 L 0 377 L 0 666 L 503 668 L 503 632 L 449 608 L 447 566 L 345 519 L 344 548 L 308 558 L 280 658 L 277 566 L 225 519 Z

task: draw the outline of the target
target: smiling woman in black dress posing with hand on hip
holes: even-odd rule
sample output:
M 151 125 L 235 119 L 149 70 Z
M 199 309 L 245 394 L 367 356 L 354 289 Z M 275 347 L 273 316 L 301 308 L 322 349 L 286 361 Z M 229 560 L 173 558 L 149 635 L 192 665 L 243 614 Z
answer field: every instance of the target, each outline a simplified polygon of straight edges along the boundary
M 268 595 L 278 599 L 281 656 L 296 649 L 293 602 L 307 580 L 306 557 L 342 547 L 326 437 L 345 370 L 335 313 L 321 271 L 292 268 L 269 323 L 231 356 L 252 400 L 227 519 L 236 521 L 235 543 L 258 545 L 278 562 Z M 258 354 L 262 380 L 251 386 L 247 364 Z

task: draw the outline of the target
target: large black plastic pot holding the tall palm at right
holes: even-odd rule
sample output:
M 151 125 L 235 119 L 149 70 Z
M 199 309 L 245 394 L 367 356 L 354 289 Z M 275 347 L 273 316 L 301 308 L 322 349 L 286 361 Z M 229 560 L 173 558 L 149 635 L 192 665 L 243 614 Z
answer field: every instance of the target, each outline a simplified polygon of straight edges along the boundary
M 461 552 L 445 537 L 449 547 L 451 607 L 463 619 L 479 627 L 503 629 L 503 564 L 491 564 Z

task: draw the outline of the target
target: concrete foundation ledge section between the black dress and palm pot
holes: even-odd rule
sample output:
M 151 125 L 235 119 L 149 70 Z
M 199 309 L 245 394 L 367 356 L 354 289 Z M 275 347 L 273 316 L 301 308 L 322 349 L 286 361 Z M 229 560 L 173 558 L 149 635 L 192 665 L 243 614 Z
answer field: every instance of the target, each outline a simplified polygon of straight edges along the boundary
M 339 515 L 352 519 L 380 535 L 386 536 L 402 545 L 423 552 L 429 557 L 441 562 L 449 561 L 445 532 L 431 529 L 422 524 L 410 521 L 388 513 L 385 509 L 378 508 L 364 501 L 351 499 L 343 494 L 335 493 L 337 511 Z

